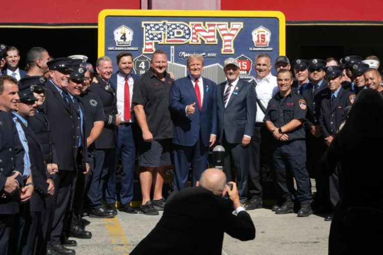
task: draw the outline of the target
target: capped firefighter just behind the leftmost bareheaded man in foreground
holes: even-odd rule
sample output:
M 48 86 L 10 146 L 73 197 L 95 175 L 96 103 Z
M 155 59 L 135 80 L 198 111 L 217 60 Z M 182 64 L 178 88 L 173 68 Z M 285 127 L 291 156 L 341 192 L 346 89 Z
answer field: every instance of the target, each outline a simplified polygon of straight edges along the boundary
M 36 111 L 37 98 L 33 95 L 30 83 L 19 83 L 19 107 L 13 112 L 20 123 L 28 142 L 29 158 L 31 161 L 31 174 L 33 177 L 34 193 L 31 200 L 20 205 L 20 232 L 18 254 L 36 254 L 36 242 L 41 231 L 41 212 L 45 208 L 45 197 L 54 193 L 54 184 L 47 172 L 41 145 L 28 125 Z M 28 238 L 26 238 L 28 236 Z

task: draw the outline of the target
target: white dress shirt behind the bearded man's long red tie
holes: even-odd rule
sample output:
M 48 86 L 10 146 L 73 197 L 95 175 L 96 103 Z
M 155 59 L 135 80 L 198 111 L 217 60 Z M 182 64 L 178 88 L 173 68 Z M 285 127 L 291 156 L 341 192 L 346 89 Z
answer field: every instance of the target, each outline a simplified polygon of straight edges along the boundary
M 121 118 L 121 123 L 125 122 L 136 122 L 136 115 L 133 110 L 132 105 L 132 96 L 133 96 L 133 86 L 134 86 L 134 80 L 132 75 L 127 76 L 127 84 L 129 85 L 129 96 L 130 96 L 130 104 L 131 104 L 131 119 L 129 121 L 126 121 L 123 118 L 123 111 L 125 107 L 125 76 L 121 75 L 119 72 L 117 73 L 117 110 L 118 112 L 121 112 L 121 115 L 119 116 Z

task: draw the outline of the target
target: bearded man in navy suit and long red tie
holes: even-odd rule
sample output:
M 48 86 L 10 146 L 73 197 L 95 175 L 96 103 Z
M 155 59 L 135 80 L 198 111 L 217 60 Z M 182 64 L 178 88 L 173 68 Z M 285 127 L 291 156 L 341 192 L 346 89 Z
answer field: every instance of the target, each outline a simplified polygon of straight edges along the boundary
M 116 93 L 117 110 L 121 112 L 121 122 L 118 126 L 118 143 L 116 149 L 116 162 L 121 157 L 121 192 L 119 211 L 137 213 L 138 210 L 131 207 L 133 199 L 133 177 L 136 160 L 135 137 L 137 130 L 136 116 L 132 105 L 133 86 L 139 75 L 132 74 L 133 56 L 129 52 L 120 52 L 116 56 L 118 71 L 110 77 L 110 86 Z M 117 165 L 117 164 L 116 164 Z M 109 178 L 106 196 L 110 200 L 116 198 L 116 175 Z M 108 199 L 108 198 L 106 198 Z M 109 202 L 108 202 L 109 204 Z

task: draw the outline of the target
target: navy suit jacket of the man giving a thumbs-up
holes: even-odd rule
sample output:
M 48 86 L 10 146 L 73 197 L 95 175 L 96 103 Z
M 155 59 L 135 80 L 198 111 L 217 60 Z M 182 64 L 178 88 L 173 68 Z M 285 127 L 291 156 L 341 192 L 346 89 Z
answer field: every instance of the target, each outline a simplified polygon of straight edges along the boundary
M 203 84 L 204 98 L 201 110 L 189 76 L 177 79 L 171 85 L 169 109 L 174 113 L 174 144 L 193 146 L 197 143 L 201 131 L 203 144 L 209 146 L 210 135 L 217 135 L 217 85 L 207 78 L 203 78 Z M 194 114 L 186 116 L 186 106 L 194 102 Z

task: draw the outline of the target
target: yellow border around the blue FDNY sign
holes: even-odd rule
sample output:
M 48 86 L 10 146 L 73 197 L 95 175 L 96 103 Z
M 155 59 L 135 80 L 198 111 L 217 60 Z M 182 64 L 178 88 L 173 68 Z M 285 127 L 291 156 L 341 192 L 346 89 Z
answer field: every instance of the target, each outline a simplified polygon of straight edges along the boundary
M 98 15 L 98 57 L 105 55 L 105 18 L 124 17 L 227 17 L 277 18 L 279 20 L 279 55 L 286 54 L 286 19 L 276 11 L 179 11 L 179 10 L 102 10 Z

